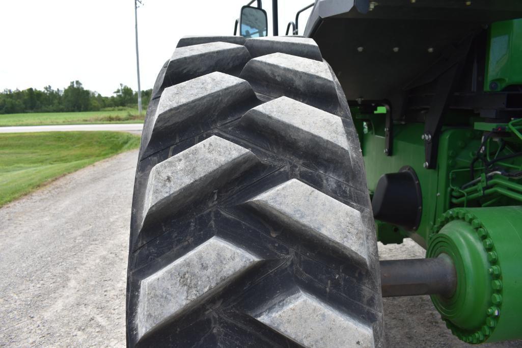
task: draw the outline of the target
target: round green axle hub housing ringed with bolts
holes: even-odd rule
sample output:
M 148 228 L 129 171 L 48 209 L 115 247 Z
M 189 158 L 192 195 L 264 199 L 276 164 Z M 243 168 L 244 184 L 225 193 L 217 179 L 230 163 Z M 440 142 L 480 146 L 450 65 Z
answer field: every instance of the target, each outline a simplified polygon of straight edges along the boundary
M 449 257 L 450 297 L 431 296 L 446 326 L 468 343 L 522 335 L 522 207 L 456 208 L 433 227 L 426 258 Z

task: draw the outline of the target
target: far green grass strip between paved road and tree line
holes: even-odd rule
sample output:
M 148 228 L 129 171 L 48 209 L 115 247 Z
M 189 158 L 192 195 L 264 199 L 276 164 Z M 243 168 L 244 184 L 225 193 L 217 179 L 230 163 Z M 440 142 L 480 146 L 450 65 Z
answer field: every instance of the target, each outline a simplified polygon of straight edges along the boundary
M 0 115 L 0 126 L 88 124 L 88 123 L 143 123 L 138 110 L 36 112 Z

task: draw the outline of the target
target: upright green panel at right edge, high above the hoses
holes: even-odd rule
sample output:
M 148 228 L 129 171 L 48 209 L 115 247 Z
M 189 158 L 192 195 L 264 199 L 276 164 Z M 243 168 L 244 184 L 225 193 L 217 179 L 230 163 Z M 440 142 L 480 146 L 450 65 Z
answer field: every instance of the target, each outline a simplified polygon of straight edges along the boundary
M 522 85 L 522 19 L 491 25 L 486 57 L 485 91 Z

